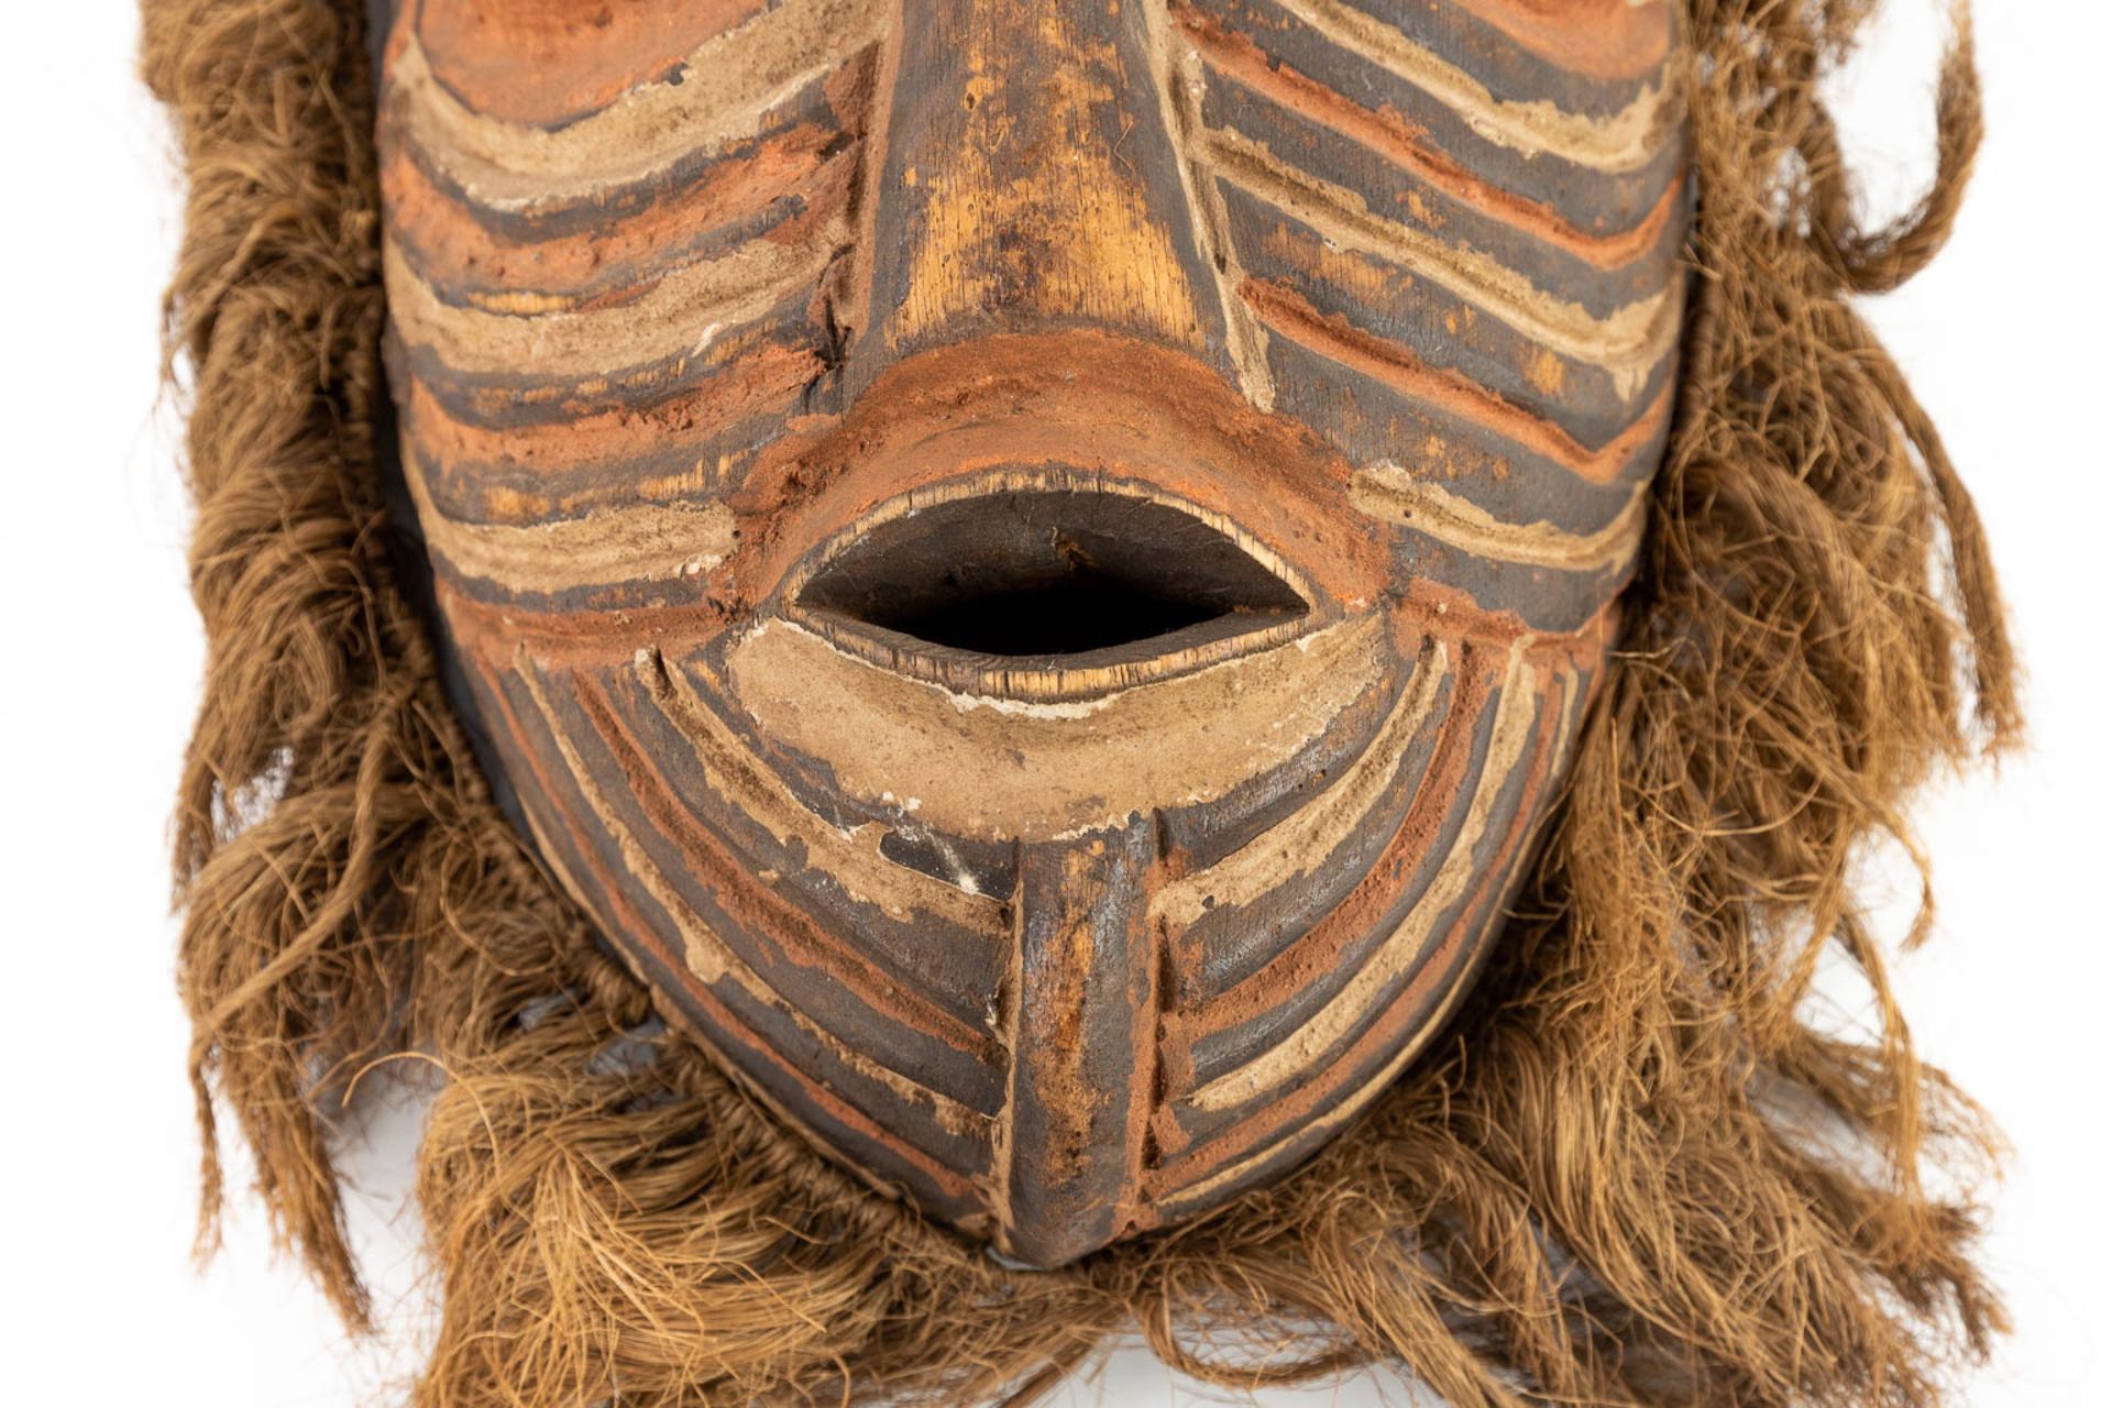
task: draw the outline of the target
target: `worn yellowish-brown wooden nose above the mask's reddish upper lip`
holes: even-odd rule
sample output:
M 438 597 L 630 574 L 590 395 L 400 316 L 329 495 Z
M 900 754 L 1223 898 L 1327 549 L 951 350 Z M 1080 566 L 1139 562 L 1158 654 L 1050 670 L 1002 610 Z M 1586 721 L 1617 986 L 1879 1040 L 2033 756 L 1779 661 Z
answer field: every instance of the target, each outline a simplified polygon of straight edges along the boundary
M 917 353 L 1010 331 L 1132 336 L 1231 376 L 1168 44 L 1159 0 L 902 0 L 849 399 Z

